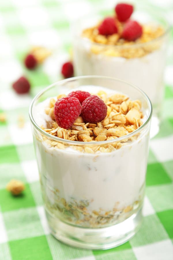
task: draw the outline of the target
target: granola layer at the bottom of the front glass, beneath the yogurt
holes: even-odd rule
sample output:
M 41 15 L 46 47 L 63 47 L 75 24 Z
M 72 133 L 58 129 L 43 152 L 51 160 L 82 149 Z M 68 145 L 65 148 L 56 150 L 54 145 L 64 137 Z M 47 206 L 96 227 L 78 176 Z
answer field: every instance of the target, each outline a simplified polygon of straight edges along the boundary
M 53 203 L 48 199 L 46 192 L 49 193 L 49 196 L 52 193 Z M 92 209 L 94 198 L 87 200 L 71 197 L 70 200 L 67 201 L 60 196 L 58 189 L 54 190 L 46 186 L 46 192 L 45 188 L 42 187 L 45 208 L 54 217 L 76 226 L 101 228 L 122 222 L 142 207 L 144 184 L 140 188 L 138 199 L 133 201 L 130 205 L 126 205 L 123 208 L 119 207 L 119 201 L 116 201 L 116 198 L 112 198 L 112 200 L 115 201 L 114 207 L 107 210 L 102 208 L 99 208 L 99 210 Z

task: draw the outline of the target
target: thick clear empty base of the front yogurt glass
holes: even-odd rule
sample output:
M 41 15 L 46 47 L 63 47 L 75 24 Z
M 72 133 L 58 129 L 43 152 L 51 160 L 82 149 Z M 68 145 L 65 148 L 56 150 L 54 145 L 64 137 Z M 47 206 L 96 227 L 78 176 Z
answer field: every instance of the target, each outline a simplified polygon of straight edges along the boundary
M 98 229 L 82 228 L 66 224 L 46 211 L 51 233 L 61 242 L 85 249 L 109 249 L 127 242 L 139 230 L 142 208 L 123 222 Z

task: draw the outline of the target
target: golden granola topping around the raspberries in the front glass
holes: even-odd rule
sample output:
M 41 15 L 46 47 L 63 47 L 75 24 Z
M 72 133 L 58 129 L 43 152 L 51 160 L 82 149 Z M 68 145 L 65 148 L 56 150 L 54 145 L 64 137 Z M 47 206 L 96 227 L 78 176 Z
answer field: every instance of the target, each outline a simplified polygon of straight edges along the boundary
M 54 104 L 55 99 L 50 99 L 49 107 L 45 108 L 45 113 L 49 114 L 52 122 L 47 122 L 47 128 L 43 128 L 47 133 L 71 141 L 80 142 L 98 142 L 105 140 L 113 140 L 128 133 L 133 132 L 142 125 L 141 118 L 143 117 L 140 111 L 141 102 L 139 100 L 131 101 L 124 94 L 113 94 L 108 96 L 104 91 L 99 91 L 97 95 L 107 105 L 107 116 L 98 123 L 84 122 L 82 116 L 79 116 L 70 129 L 64 129 L 57 125 L 54 119 Z M 60 95 L 57 99 L 65 95 Z M 62 143 L 51 142 L 47 140 L 51 146 L 64 148 Z M 101 152 L 110 152 L 118 149 L 122 143 L 115 143 L 105 148 L 102 146 L 86 147 L 86 152 L 94 153 L 97 150 Z M 79 147 L 80 149 L 81 147 Z

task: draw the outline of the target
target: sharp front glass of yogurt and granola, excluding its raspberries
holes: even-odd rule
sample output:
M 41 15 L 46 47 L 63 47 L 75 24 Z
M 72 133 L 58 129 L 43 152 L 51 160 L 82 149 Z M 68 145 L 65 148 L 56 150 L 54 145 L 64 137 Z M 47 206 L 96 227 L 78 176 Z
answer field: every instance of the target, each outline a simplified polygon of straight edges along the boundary
M 76 90 L 98 96 L 107 114 L 97 123 L 79 115 L 64 129 L 55 121 L 54 105 Z M 107 249 L 138 231 L 151 114 L 142 90 L 108 77 L 62 80 L 33 99 L 29 115 L 42 197 L 57 239 L 80 248 Z

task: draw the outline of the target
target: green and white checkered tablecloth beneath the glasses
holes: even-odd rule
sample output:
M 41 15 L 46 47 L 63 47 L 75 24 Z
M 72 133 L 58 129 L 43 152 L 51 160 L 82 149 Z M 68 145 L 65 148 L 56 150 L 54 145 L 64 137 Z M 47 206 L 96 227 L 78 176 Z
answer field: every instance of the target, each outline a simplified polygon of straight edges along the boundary
M 166 10 L 167 18 L 173 22 L 171 0 L 147 2 L 151 10 Z M 7 117 L 6 122 L 0 123 L 0 260 L 173 259 L 172 48 L 168 50 L 165 72 L 163 120 L 150 145 L 140 231 L 117 248 L 82 250 L 50 235 L 45 218 L 28 107 L 38 91 L 61 78 L 61 64 L 69 59 L 70 22 L 94 9 L 103 13 L 114 4 L 111 0 L 0 0 L 0 112 Z M 173 34 L 170 41 L 173 45 Z M 29 71 L 23 66 L 23 58 L 32 45 L 49 47 L 53 55 Z M 31 82 L 30 95 L 17 95 L 11 88 L 22 74 Z M 23 127 L 21 120 L 25 121 Z M 14 198 L 5 190 L 11 179 L 25 183 L 23 196 Z

